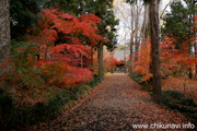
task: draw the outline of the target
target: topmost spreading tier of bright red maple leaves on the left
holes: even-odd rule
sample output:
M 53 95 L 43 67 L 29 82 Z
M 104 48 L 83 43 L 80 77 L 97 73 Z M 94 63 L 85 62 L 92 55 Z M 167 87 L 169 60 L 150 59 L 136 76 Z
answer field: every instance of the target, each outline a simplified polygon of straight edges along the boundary
M 86 36 L 91 40 L 92 45 L 97 44 L 99 40 L 104 40 L 102 36 L 96 34 L 99 32 L 97 24 L 101 22 L 101 19 L 94 14 L 83 14 L 74 17 L 73 15 L 60 13 L 56 9 L 50 8 L 50 10 L 45 9 L 40 15 L 44 20 L 39 19 L 38 23 L 45 29 L 62 32 L 73 37 L 82 33 L 83 36 Z

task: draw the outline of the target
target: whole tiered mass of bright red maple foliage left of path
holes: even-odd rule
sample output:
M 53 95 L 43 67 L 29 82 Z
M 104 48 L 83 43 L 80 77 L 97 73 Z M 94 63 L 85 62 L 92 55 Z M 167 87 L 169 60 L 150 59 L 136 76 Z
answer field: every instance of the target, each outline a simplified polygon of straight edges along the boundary
M 40 55 L 36 67 L 42 68 L 46 84 L 72 87 L 90 81 L 92 72 L 79 66 L 91 59 L 91 48 L 85 44 L 95 46 L 105 39 L 97 34 L 101 19 L 94 14 L 76 17 L 53 8 L 39 14 L 40 31 L 34 38 Z

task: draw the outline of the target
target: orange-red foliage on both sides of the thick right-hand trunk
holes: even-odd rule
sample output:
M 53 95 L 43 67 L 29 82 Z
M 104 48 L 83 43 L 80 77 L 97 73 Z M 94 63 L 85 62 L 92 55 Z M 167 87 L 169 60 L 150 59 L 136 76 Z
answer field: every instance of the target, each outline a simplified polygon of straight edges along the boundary
M 161 43 L 161 74 L 174 74 L 179 71 L 187 72 L 189 68 L 193 68 L 194 63 L 197 64 L 197 58 L 188 55 L 188 43 L 193 44 L 196 41 L 192 38 L 184 43 L 184 50 L 175 49 L 174 38 L 164 37 Z M 140 50 L 140 57 L 137 62 L 135 62 L 136 68 L 132 70 L 136 73 L 142 75 L 142 81 L 149 80 L 152 75 L 149 73 L 150 64 L 150 43 L 142 43 Z M 178 75 L 182 75 L 181 73 Z M 185 74 L 183 74 L 185 75 Z

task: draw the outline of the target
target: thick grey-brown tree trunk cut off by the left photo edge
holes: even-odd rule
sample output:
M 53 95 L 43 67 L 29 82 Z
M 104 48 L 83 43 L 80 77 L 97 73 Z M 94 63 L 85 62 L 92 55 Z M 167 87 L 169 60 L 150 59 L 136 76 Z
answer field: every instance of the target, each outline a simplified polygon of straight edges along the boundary
M 0 0 L 0 62 L 10 58 L 10 1 Z

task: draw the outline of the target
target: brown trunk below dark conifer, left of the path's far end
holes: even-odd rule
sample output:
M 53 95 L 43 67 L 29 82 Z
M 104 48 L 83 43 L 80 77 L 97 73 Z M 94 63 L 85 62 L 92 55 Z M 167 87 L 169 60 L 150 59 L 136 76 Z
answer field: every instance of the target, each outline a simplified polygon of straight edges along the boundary
M 103 80 L 103 41 L 99 44 L 97 48 L 97 66 L 99 66 L 99 76 Z

